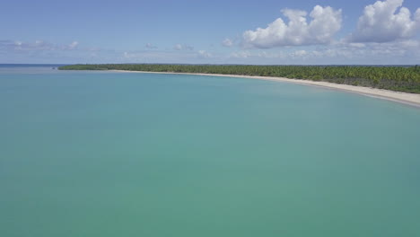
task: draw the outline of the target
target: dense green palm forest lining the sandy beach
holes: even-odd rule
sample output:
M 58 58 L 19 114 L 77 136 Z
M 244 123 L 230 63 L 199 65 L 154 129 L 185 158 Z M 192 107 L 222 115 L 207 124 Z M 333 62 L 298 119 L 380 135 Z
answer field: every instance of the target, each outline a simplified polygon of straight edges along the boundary
M 420 66 L 249 66 L 103 64 L 60 66 L 60 70 L 127 70 L 221 75 L 278 76 L 291 79 L 344 83 L 420 93 Z

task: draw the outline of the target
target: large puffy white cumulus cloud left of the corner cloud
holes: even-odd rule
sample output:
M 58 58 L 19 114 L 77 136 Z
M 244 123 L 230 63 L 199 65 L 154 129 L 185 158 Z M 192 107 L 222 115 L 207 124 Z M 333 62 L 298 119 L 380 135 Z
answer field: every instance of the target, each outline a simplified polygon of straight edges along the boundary
M 243 45 L 249 48 L 275 48 L 282 46 L 301 46 L 327 44 L 341 28 L 341 9 L 316 5 L 309 16 L 300 10 L 284 9 L 289 22 L 278 18 L 267 28 L 243 33 Z

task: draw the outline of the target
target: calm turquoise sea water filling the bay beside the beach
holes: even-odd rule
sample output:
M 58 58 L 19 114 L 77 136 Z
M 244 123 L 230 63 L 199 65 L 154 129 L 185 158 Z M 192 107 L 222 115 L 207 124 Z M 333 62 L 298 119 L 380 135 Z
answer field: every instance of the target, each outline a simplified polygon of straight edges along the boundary
M 0 236 L 420 236 L 420 110 L 290 83 L 0 68 Z

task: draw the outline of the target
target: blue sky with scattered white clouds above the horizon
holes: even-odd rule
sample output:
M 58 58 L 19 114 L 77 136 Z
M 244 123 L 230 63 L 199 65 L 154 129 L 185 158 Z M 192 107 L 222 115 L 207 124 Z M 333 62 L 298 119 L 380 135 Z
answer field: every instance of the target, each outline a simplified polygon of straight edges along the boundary
M 418 65 L 420 2 L 4 1 L 0 63 Z

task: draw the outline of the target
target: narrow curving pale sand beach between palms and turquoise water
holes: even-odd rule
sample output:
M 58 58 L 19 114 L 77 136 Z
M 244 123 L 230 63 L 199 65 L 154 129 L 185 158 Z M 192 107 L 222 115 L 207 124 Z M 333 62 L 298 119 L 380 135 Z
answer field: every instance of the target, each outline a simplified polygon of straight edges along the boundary
M 355 86 L 349 84 L 339 84 L 339 83 L 327 83 L 327 82 L 315 82 L 311 80 L 299 80 L 299 79 L 289 79 L 284 77 L 274 77 L 274 76 L 258 76 L 258 75 L 218 75 L 218 74 L 193 74 L 193 73 L 171 73 L 171 72 L 147 72 L 147 71 L 127 71 L 127 70 L 108 70 L 109 72 L 117 73 L 140 73 L 140 74 L 168 74 L 168 75 L 209 75 L 209 76 L 221 76 L 221 77 L 234 77 L 234 78 L 248 78 L 248 79 L 258 79 L 266 81 L 275 81 L 283 83 L 297 83 L 303 85 L 311 85 L 322 87 L 326 89 L 332 89 L 343 92 L 353 92 L 364 96 L 369 96 L 373 98 L 378 98 L 387 101 L 394 101 L 398 103 L 403 103 L 406 105 L 414 106 L 420 109 L 420 94 L 416 93 L 407 93 L 407 92 L 394 92 L 389 90 Z

